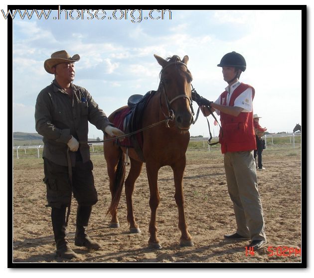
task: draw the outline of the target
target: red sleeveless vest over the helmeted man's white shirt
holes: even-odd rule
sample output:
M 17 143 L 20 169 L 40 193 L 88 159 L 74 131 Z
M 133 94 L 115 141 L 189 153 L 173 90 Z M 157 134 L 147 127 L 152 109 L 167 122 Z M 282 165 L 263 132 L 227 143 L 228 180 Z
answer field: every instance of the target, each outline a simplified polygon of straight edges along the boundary
M 234 100 L 246 89 L 252 88 L 252 100 L 255 90 L 252 86 L 241 83 L 232 93 L 228 106 L 234 106 Z M 225 91 L 220 96 L 220 104 L 227 105 L 227 94 Z M 224 102 L 224 103 L 222 103 Z M 219 143 L 221 152 L 241 152 L 256 149 L 255 134 L 253 128 L 253 111 L 241 112 L 237 117 L 220 112 L 221 129 L 219 132 Z

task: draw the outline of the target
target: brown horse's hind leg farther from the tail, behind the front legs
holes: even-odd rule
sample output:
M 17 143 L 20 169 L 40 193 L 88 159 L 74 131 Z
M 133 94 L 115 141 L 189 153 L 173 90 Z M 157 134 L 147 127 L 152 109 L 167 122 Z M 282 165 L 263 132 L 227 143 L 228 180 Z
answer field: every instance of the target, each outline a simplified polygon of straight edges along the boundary
M 135 216 L 133 212 L 132 194 L 134 190 L 135 181 L 141 174 L 143 162 L 136 161 L 132 158 L 130 158 L 130 162 L 131 162 L 130 172 L 125 182 L 127 209 L 128 209 L 127 220 L 130 223 L 131 233 L 141 233 L 139 225 L 135 222 Z

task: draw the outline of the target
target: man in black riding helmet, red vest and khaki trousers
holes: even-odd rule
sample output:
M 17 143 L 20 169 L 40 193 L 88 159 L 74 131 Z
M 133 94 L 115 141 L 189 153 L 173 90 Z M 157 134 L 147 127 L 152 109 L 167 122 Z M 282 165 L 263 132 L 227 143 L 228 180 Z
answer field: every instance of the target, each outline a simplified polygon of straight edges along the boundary
M 251 239 L 247 247 L 257 250 L 266 244 L 266 235 L 253 157 L 253 150 L 256 149 L 252 107 L 255 90 L 239 82 L 241 73 L 246 69 L 246 61 L 241 54 L 234 51 L 227 53 L 217 66 L 222 67 L 223 79 L 228 86 L 210 106 L 220 115 L 219 143 L 224 154 L 228 192 L 237 223 L 236 232 L 224 235 L 224 238 Z M 203 114 L 208 116 L 209 109 L 203 106 Z

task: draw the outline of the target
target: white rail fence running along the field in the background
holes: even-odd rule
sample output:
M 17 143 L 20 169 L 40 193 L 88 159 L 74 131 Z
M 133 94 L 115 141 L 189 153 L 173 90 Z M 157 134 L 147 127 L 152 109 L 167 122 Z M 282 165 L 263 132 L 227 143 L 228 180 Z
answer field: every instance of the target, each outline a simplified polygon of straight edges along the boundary
M 284 134 L 267 134 L 264 135 L 262 138 L 265 139 L 265 143 L 266 143 L 266 148 L 267 148 L 267 138 L 271 138 L 272 139 L 272 145 L 274 145 L 274 141 L 273 138 L 278 138 L 278 137 L 289 137 L 290 138 L 290 144 L 292 144 L 293 148 L 295 148 L 295 137 L 301 137 L 302 134 L 301 132 L 299 133 L 284 133 Z M 212 140 L 217 141 L 218 137 L 213 137 Z M 190 138 L 190 141 L 202 141 L 203 142 L 203 147 L 205 148 L 205 146 L 207 146 L 207 141 L 208 141 L 208 137 L 197 137 L 197 138 Z M 100 146 L 103 145 L 102 142 L 99 143 L 89 143 L 88 144 L 91 148 L 92 148 L 92 152 L 94 152 L 94 146 Z M 16 158 L 18 158 L 18 151 L 19 150 L 24 150 L 25 154 L 26 154 L 26 149 L 37 149 L 37 157 L 40 158 L 40 149 L 43 148 L 43 145 L 35 145 L 35 146 L 13 146 L 12 147 L 12 151 L 14 154 L 14 151 L 16 150 Z M 208 145 L 208 151 L 210 151 L 210 146 Z

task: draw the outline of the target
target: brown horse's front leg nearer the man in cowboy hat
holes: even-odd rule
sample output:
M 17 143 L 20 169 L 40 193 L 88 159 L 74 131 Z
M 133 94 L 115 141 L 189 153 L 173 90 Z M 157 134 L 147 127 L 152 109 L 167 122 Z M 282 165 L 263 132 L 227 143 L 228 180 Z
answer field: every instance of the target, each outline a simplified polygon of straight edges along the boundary
M 159 191 L 157 185 L 159 168 L 154 163 L 146 163 L 147 177 L 150 185 L 150 207 L 151 207 L 151 221 L 150 221 L 150 239 L 149 248 L 160 249 L 159 239 L 157 237 L 157 226 L 156 226 L 156 211 L 159 205 Z

